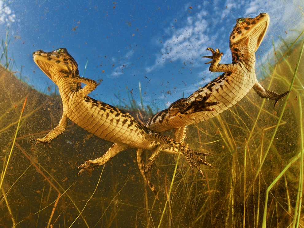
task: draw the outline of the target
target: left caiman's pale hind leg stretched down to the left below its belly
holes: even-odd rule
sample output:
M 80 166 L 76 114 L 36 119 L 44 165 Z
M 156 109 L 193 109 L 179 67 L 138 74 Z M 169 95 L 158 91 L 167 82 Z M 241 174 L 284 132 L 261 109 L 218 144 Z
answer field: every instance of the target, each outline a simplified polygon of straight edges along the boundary
M 124 151 L 127 148 L 129 148 L 127 145 L 114 143 L 101 157 L 94 160 L 87 160 L 84 164 L 78 166 L 78 169 L 80 169 L 78 176 L 83 174 L 85 171 L 88 171 L 91 175 L 91 172 L 95 166 L 104 165 L 120 151 Z

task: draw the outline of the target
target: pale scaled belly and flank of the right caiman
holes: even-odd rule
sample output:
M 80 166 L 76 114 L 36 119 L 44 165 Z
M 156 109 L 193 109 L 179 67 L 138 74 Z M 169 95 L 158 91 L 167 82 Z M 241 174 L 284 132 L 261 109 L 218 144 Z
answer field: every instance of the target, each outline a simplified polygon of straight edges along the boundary
M 159 120 L 155 121 L 155 123 L 151 123 L 149 129 L 162 132 L 172 128 L 181 128 L 185 125 L 187 126 L 208 120 L 227 110 L 240 101 L 256 82 L 255 73 L 247 72 L 247 75 L 244 74 L 245 72 L 224 73 L 187 98 L 188 102 L 191 103 L 212 92 L 212 95 L 207 102 L 219 102 L 212 106 L 212 111 L 194 112 L 186 115 L 179 112 L 171 115 L 169 111 L 166 114 L 166 118 L 159 116 Z

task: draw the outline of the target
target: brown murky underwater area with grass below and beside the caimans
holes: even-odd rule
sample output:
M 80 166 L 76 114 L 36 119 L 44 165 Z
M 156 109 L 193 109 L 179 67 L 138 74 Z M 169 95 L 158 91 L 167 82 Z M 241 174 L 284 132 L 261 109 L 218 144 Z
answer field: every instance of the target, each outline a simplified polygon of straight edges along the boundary
M 212 152 L 207 159 L 215 168 L 203 167 L 203 179 L 182 156 L 161 154 L 150 177 L 159 201 L 142 180 L 134 149 L 121 152 L 92 177 L 78 177 L 77 166 L 111 143 L 71 123 L 50 147 L 34 145 L 31 139 L 58 123 L 61 100 L 37 92 L 6 70 L 12 65 L 6 36 L 0 59 L 0 225 L 304 226 L 302 34 L 294 42 L 274 45 L 275 64 L 261 66 L 261 83 L 278 92 L 289 88 L 288 97 L 273 107 L 273 101 L 251 91 L 216 118 L 189 126 L 186 143 Z M 119 106 L 138 110 L 133 115 L 144 121 L 151 108 L 128 94 L 129 104 L 121 100 Z M 147 159 L 149 151 L 144 155 Z

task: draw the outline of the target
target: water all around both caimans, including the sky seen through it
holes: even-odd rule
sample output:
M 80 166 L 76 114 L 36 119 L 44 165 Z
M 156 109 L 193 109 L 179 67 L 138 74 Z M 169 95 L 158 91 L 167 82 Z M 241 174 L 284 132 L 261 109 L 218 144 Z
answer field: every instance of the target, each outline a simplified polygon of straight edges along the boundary
M 0 227 L 304 226 L 299 2 L 0 0 Z M 214 168 L 201 166 L 205 178 L 193 173 L 182 155 L 161 153 L 148 174 L 157 200 L 140 174 L 135 149 L 120 152 L 92 176 L 77 176 L 80 164 L 103 155 L 112 143 L 69 121 L 51 143 L 35 145 L 33 139 L 57 126 L 62 102 L 33 63 L 33 51 L 72 49 L 81 76 L 101 83 L 90 96 L 145 122 L 217 77 L 220 73 L 210 73 L 202 62 L 205 49 L 218 45 L 221 62 L 230 63 L 229 50 L 222 48 L 228 48 L 237 15 L 257 12 L 271 15 L 270 31 L 256 52 L 258 80 L 264 88 L 291 92 L 274 107 L 251 89 L 229 110 L 189 126 L 185 143 L 211 153 L 207 161 Z M 150 155 L 144 151 L 144 161 Z

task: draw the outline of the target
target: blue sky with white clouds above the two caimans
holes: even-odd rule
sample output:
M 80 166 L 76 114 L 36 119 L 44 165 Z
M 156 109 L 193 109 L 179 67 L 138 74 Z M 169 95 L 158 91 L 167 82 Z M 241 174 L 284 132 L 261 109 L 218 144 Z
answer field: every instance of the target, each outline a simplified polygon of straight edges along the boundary
M 91 93 L 95 99 L 117 105 L 120 96 L 129 104 L 132 93 L 139 103 L 140 82 L 144 105 L 156 111 L 220 74 L 201 58 L 209 55 L 207 47 L 224 52 L 222 63 L 231 62 L 228 39 L 237 18 L 270 15 L 257 64 L 271 54 L 272 41 L 292 39 L 304 27 L 303 1 L 244 2 L 0 0 L 0 35 L 4 39 L 9 27 L 13 70 L 22 68 L 23 80 L 41 92 L 55 86 L 32 53 L 64 47 L 81 76 L 87 63 L 84 77 L 102 80 Z

